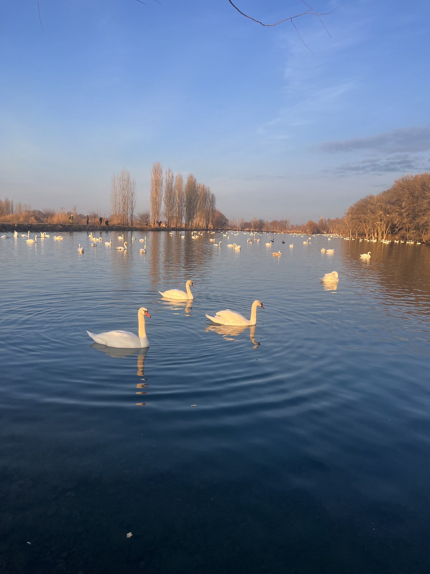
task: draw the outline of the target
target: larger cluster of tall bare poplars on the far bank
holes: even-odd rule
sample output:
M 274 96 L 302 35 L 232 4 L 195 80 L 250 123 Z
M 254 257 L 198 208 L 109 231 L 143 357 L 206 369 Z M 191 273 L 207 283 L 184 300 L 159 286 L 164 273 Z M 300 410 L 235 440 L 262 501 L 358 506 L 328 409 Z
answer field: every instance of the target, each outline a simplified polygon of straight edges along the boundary
M 174 175 L 168 168 L 163 174 L 163 166 L 156 161 L 151 169 L 151 224 L 157 226 L 163 215 L 167 227 L 204 228 L 214 226 L 216 197 L 210 188 L 198 183 L 192 173 L 184 185 L 181 173 Z

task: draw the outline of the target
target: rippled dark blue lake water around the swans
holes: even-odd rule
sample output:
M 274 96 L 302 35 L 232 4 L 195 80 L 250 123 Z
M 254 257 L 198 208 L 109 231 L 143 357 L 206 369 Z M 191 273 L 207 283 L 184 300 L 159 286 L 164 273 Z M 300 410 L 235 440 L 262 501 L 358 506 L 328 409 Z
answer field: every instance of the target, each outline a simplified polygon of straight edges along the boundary
M 428 573 L 429 248 L 117 235 L 0 240 L 0 571 Z

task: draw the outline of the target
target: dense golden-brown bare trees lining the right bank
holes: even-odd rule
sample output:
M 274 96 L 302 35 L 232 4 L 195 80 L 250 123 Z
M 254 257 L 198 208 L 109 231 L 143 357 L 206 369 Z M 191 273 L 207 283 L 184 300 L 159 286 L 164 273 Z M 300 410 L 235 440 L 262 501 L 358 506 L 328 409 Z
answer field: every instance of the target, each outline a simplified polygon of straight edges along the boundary
M 400 177 L 390 189 L 359 199 L 344 220 L 350 235 L 429 241 L 430 173 Z

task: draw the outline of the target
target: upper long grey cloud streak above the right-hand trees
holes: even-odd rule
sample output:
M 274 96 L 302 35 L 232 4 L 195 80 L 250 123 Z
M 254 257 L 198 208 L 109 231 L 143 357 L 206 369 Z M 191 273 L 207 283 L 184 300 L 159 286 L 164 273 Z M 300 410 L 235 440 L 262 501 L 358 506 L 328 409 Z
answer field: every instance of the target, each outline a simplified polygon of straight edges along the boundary
M 355 152 L 358 150 L 385 153 L 423 152 L 430 149 L 430 125 L 406 127 L 365 138 L 323 142 L 320 149 L 327 153 Z

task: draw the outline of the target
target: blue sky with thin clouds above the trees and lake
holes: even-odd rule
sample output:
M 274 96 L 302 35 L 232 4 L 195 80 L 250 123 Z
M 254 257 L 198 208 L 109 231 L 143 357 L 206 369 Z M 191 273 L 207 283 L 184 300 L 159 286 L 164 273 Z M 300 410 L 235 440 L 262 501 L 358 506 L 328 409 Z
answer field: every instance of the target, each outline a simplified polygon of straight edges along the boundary
M 0 197 L 107 215 L 126 168 L 145 210 L 160 161 L 302 223 L 430 170 L 428 0 L 144 1 L 0 0 Z

